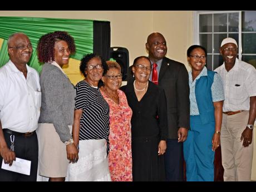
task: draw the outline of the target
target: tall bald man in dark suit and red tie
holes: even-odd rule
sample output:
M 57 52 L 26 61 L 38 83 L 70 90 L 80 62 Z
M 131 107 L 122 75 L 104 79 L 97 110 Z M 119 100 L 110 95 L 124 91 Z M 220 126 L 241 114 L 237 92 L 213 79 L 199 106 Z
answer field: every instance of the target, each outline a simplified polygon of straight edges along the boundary
M 183 181 L 183 142 L 188 134 L 190 110 L 188 71 L 183 63 L 165 57 L 167 46 L 161 33 L 154 32 L 147 37 L 146 49 L 153 68 L 150 80 L 152 73 L 157 72 L 154 81 L 164 89 L 167 101 L 166 180 Z

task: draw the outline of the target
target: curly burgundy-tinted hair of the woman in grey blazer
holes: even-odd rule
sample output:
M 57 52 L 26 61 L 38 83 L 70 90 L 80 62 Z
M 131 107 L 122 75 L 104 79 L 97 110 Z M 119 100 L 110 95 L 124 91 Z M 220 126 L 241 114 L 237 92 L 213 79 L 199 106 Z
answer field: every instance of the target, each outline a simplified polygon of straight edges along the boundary
M 53 62 L 54 46 L 58 41 L 66 41 L 71 55 L 76 52 L 75 41 L 66 31 L 55 31 L 40 37 L 37 44 L 38 61 L 42 63 Z

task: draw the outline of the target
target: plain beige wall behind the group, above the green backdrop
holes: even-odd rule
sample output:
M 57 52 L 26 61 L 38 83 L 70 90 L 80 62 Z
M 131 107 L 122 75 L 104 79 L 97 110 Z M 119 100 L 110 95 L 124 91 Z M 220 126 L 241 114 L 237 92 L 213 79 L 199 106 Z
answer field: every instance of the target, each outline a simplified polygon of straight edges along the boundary
M 134 58 L 147 55 L 147 36 L 163 33 L 168 43 L 167 56 L 183 62 L 193 43 L 193 11 L 0 11 L 0 16 L 74 18 L 110 21 L 111 47 L 126 47 L 130 65 Z

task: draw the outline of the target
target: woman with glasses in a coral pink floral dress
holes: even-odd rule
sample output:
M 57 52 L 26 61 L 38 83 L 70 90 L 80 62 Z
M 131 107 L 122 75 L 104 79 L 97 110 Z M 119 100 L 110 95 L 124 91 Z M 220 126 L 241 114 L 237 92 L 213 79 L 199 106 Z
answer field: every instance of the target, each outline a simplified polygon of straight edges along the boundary
M 119 90 L 122 82 L 121 67 L 107 61 L 109 70 L 102 77 L 101 94 L 110 106 L 109 169 L 112 181 L 132 181 L 131 116 L 132 110 L 125 93 Z

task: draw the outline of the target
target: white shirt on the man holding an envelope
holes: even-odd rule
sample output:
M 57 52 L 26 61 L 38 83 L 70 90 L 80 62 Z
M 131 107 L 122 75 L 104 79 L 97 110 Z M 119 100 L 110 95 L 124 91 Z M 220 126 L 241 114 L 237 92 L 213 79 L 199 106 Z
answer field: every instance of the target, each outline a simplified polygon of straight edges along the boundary
M 38 72 L 27 65 L 27 78 L 9 60 L 0 68 L 0 120 L 3 129 L 31 132 L 37 129 L 41 107 Z

